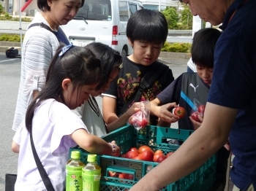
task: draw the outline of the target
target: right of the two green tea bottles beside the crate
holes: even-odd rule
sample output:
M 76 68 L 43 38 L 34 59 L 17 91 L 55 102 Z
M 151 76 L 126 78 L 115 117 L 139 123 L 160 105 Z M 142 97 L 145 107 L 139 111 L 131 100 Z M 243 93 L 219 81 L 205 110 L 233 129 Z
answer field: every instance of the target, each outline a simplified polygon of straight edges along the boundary
M 89 154 L 87 165 L 83 167 L 83 191 L 99 191 L 101 168 L 97 165 L 97 155 Z

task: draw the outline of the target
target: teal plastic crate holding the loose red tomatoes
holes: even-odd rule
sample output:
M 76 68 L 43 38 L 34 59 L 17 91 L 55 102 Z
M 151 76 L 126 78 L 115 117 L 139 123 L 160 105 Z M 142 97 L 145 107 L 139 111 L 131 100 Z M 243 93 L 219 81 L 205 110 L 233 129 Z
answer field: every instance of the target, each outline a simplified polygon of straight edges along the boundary
M 170 151 L 176 151 L 179 146 L 176 144 L 168 144 L 166 140 L 174 139 L 185 141 L 193 132 L 193 130 L 162 128 L 157 126 L 146 126 L 146 128 L 137 131 L 133 126 L 129 125 L 119 128 L 106 136 L 102 136 L 102 139 L 107 142 L 113 140 L 116 141 L 116 144 L 121 149 L 121 154 L 126 153 L 131 147 L 139 148 L 141 145 L 148 145 L 154 151 L 161 149 L 164 154 L 167 154 Z M 86 152 L 80 147 L 73 147 L 69 149 L 69 153 L 72 150 L 79 150 L 81 160 L 83 163 L 87 163 L 87 155 L 89 152 Z M 102 168 L 100 190 L 103 191 L 129 190 L 129 188 L 145 176 L 148 171 L 159 164 L 144 160 L 132 160 L 109 155 L 98 155 L 97 163 Z M 177 182 L 173 182 L 172 184 L 163 187 L 162 190 L 206 191 L 211 187 L 215 180 L 216 165 L 217 155 L 213 155 L 200 168 L 197 168 L 197 170 L 187 176 L 184 176 Z M 108 175 L 108 171 L 132 174 L 133 179 L 118 179 L 116 177 L 111 177 Z

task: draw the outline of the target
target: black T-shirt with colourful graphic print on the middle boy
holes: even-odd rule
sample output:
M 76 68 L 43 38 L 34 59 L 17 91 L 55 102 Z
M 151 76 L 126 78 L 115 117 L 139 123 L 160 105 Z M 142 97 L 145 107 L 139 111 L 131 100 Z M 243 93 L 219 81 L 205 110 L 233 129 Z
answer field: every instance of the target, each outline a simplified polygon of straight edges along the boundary
M 123 57 L 124 66 L 119 72 L 116 79 L 113 80 L 110 84 L 110 88 L 104 93 L 105 95 L 115 96 L 117 99 L 117 108 L 116 114 L 119 115 L 121 112 L 122 106 L 129 101 L 130 98 L 134 98 L 135 93 L 137 93 L 138 88 L 140 87 L 140 80 L 150 69 L 151 66 L 161 64 L 158 61 L 155 61 L 150 66 L 143 66 L 141 64 L 132 62 L 127 58 Z M 173 72 L 171 69 L 167 69 L 160 77 L 149 87 L 144 90 L 140 101 L 152 101 L 157 95 L 165 90 L 165 87 L 170 85 L 173 82 Z M 133 104 L 133 102 L 132 102 Z M 132 105 L 130 104 L 130 106 Z M 157 125 L 158 117 L 150 117 L 149 125 Z

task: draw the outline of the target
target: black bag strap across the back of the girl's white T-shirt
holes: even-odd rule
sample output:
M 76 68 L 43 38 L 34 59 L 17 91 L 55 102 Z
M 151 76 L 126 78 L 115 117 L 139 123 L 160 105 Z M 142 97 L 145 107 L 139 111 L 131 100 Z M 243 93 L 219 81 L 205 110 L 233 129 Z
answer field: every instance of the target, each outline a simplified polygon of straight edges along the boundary
M 33 138 L 32 138 L 32 130 L 31 130 L 31 133 L 30 133 L 30 143 L 31 143 L 32 152 L 33 152 L 33 155 L 34 155 L 34 160 L 36 161 L 39 174 L 42 177 L 42 182 L 44 182 L 46 190 L 54 191 L 53 184 L 50 182 L 49 176 L 46 173 L 45 168 L 42 166 L 42 163 L 39 160 L 39 157 L 37 155 L 37 151 L 34 147 L 34 141 L 33 141 Z

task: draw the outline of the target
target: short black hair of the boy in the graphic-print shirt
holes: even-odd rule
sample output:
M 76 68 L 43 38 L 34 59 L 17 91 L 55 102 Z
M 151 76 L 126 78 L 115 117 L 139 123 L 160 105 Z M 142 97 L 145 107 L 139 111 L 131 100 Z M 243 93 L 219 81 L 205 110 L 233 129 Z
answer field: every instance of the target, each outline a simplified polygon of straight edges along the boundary
M 127 37 L 131 42 L 140 40 L 164 45 L 167 35 L 167 20 L 157 10 L 140 9 L 128 20 Z

